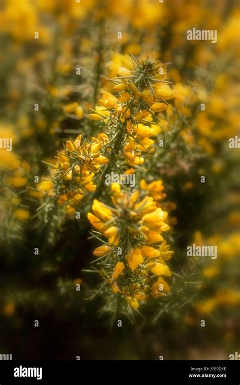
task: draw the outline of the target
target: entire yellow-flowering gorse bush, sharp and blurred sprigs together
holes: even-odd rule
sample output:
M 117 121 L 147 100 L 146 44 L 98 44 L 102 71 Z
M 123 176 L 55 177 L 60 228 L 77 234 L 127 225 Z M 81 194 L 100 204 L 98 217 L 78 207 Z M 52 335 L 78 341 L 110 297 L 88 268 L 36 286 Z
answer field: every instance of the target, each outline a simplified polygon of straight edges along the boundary
M 151 352 L 176 336 L 179 357 L 206 320 L 209 347 L 221 332 L 236 349 L 239 10 L 215 8 L 3 2 L 1 309 L 14 328 L 49 311 L 91 338 L 96 319 L 125 320 L 151 330 Z M 188 40 L 193 28 L 214 41 Z

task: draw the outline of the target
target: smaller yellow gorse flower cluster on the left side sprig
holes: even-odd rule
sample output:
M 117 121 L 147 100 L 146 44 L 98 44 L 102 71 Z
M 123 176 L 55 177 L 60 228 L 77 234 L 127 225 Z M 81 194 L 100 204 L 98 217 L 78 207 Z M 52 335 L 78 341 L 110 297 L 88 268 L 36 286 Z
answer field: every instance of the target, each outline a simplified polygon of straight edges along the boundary
M 108 162 L 99 152 L 107 136 L 99 134 L 90 143 L 82 142 L 78 135 L 73 141 L 67 140 L 64 149 L 58 152 L 57 161 L 50 166 L 50 176 L 29 188 L 33 198 L 54 200 L 64 209 L 66 214 L 74 214 L 76 207 L 87 192 L 93 192 L 96 184 L 93 182 L 95 173 L 100 171 L 100 165 Z

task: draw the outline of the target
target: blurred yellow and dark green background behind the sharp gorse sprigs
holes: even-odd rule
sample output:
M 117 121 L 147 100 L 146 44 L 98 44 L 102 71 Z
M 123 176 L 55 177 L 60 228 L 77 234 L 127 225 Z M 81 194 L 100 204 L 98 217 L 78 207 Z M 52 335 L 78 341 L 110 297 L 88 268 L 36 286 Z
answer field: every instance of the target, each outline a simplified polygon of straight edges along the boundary
M 187 41 L 193 27 L 216 29 L 217 43 Z M 229 138 L 239 137 L 237 2 L 2 0 L 0 31 L 0 136 L 13 139 L 11 152 L 0 148 L 0 353 L 221 360 L 240 352 L 239 148 L 229 148 Z M 99 317 L 101 297 L 86 300 L 98 280 L 81 272 L 97 245 L 87 240 L 90 224 L 56 203 L 42 210 L 34 177 L 47 175 L 42 161 L 53 162 L 69 135 L 97 130 L 89 108 L 109 87 L 103 76 L 117 75 L 130 52 L 169 63 L 177 91 L 163 120 L 167 145 L 151 172 L 163 179 L 172 209 L 176 274 L 157 309 L 145 306 L 144 318 L 134 324 L 121 318 L 118 328 L 108 314 Z M 187 258 L 192 243 L 216 245 L 217 259 Z

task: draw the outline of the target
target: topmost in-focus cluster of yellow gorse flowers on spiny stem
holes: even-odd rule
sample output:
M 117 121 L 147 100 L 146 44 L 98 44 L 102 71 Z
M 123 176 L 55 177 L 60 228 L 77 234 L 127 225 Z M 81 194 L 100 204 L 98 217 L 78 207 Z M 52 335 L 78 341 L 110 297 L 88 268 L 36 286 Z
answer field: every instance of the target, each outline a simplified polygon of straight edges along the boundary
M 121 138 L 126 162 L 131 166 L 143 164 L 144 153 L 154 151 L 151 137 L 160 130 L 157 114 L 167 108 L 165 100 L 176 94 L 166 79 L 165 64 L 149 57 L 138 61 L 126 54 L 118 76 L 108 79 L 114 85 L 112 93 L 103 91 L 100 107 L 89 115 L 103 121 L 110 143 Z

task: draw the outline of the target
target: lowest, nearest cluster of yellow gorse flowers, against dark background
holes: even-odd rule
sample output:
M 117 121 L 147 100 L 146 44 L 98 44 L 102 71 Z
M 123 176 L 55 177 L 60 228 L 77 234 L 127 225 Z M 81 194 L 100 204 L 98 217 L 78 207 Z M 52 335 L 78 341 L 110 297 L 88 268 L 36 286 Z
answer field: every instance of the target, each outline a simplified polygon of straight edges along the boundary
M 100 274 L 112 291 L 137 309 L 139 300 L 163 295 L 156 276 L 171 276 L 166 260 L 173 251 L 162 235 L 170 228 L 165 222 L 168 213 L 152 197 L 140 198 L 139 190 L 129 195 L 117 184 L 112 185 L 112 203 L 114 207 L 94 200 L 93 214 L 88 213 L 98 234 L 108 240 L 94 255 L 99 257 Z M 161 290 L 168 292 L 168 284 L 161 282 Z

